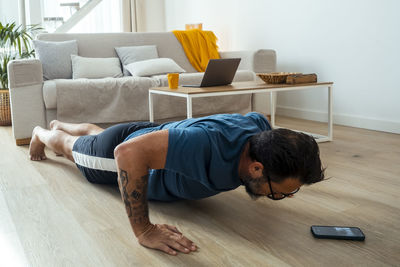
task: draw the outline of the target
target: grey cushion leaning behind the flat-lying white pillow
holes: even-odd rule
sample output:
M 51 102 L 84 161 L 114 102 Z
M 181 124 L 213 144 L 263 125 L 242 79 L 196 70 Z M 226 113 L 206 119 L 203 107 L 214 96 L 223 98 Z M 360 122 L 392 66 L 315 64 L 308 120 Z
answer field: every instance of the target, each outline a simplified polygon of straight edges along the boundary
M 125 76 L 131 75 L 126 69 L 127 65 L 137 61 L 158 58 L 157 46 L 155 45 L 116 47 L 115 51 L 121 60 Z

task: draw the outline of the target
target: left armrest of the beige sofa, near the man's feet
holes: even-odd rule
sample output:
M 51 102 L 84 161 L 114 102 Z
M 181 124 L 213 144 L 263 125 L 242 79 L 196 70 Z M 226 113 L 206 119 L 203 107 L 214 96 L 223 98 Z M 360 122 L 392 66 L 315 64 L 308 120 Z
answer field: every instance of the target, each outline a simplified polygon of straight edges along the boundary
M 37 59 L 8 63 L 11 118 L 17 144 L 28 142 L 35 126 L 46 127 L 42 64 Z

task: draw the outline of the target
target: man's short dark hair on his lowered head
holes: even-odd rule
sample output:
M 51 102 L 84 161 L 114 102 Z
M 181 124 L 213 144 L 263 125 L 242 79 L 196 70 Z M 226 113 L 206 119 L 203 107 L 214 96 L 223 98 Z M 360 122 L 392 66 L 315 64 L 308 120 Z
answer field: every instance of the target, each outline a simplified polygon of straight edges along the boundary
M 321 166 L 319 147 L 311 135 L 278 128 L 260 132 L 249 140 L 252 160 L 264 166 L 264 176 L 280 183 L 297 178 L 302 184 L 322 181 L 325 169 Z

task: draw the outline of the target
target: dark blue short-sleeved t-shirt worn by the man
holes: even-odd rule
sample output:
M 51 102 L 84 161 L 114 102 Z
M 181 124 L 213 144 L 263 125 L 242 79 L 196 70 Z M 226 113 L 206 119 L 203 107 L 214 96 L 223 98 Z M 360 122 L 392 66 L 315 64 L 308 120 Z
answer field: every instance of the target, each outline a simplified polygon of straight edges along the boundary
M 239 160 L 254 134 L 271 130 L 259 113 L 218 114 L 164 123 L 130 134 L 125 141 L 168 129 L 164 169 L 150 170 L 148 199 L 201 199 L 237 188 Z

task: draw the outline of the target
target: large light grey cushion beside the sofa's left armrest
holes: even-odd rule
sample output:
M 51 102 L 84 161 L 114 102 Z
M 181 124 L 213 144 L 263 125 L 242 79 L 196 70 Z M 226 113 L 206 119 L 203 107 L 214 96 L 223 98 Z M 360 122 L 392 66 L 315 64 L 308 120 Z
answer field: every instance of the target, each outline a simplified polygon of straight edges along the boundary
M 36 55 L 42 63 L 45 80 L 72 78 L 71 55 L 78 54 L 76 40 L 65 42 L 33 40 L 33 44 Z

